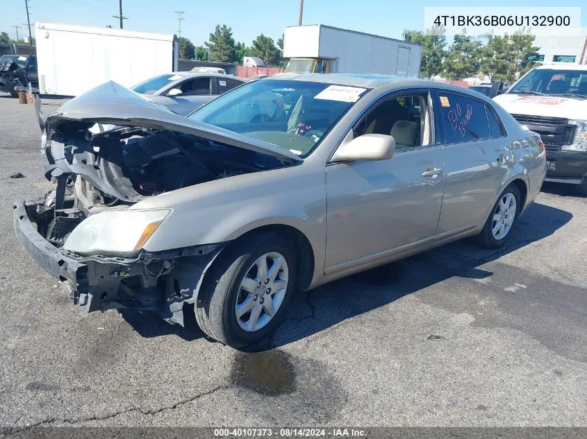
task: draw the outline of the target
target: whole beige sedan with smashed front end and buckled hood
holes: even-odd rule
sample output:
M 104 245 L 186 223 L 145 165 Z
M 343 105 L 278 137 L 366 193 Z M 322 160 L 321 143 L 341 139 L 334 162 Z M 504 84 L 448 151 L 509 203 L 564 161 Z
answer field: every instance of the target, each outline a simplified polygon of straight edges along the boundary
M 233 347 L 297 291 L 465 236 L 503 246 L 545 178 L 538 135 L 495 102 L 395 76 L 254 81 L 188 118 L 107 83 L 40 123 L 57 184 L 14 206 L 28 254 L 83 309 L 183 324 L 192 303 Z

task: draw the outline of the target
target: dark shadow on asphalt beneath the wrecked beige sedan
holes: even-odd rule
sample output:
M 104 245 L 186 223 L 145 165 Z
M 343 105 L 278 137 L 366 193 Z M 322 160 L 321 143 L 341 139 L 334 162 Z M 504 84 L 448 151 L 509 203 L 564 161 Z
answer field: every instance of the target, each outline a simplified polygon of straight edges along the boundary
M 276 334 L 245 351 L 270 350 L 306 338 L 450 277 L 489 277 L 493 273 L 479 266 L 553 234 L 571 218 L 570 212 L 533 203 L 516 223 L 512 239 L 499 250 L 479 248 L 465 239 L 298 293 Z M 155 313 L 120 313 L 144 337 L 175 334 L 186 341 L 204 337 L 192 306 L 183 309 L 185 327 L 170 325 Z

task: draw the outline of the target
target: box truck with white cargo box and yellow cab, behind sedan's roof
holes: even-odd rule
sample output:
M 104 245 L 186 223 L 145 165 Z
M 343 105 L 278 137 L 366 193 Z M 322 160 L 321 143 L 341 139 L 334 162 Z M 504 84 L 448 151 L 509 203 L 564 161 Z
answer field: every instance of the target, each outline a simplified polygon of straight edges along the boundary
M 422 47 L 393 38 L 311 24 L 286 26 L 286 73 L 367 73 L 417 78 Z

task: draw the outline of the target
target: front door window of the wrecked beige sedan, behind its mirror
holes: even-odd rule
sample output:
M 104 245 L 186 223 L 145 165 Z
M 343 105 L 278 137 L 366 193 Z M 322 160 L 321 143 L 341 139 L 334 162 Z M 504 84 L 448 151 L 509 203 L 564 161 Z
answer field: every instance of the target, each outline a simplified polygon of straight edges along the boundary
M 431 144 L 427 95 L 408 95 L 374 105 L 358 123 L 354 137 L 364 134 L 391 135 L 395 148 L 413 148 Z

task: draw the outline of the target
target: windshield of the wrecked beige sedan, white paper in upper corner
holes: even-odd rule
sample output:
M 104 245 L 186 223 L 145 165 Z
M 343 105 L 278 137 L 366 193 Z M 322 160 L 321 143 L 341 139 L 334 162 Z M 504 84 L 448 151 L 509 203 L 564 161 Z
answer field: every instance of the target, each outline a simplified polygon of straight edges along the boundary
M 264 79 L 222 94 L 188 117 L 306 157 L 366 90 Z

